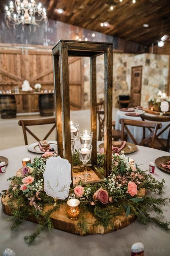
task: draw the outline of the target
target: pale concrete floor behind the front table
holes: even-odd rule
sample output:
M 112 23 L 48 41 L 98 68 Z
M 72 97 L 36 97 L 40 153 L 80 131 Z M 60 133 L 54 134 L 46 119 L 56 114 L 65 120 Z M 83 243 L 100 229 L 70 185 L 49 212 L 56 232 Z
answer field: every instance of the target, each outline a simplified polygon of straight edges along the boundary
M 117 109 L 113 111 L 113 120 L 115 120 L 115 114 Z M 90 131 L 90 110 L 79 110 L 71 111 L 71 121 L 80 124 L 79 131 L 88 130 Z M 36 114 L 17 114 L 16 118 L 2 119 L 0 118 L 0 150 L 18 147 L 25 145 L 24 135 L 22 127 L 18 125 L 18 120 L 22 119 L 38 119 L 45 118 L 41 117 L 38 113 Z M 30 130 L 35 133 L 38 138 L 43 139 L 43 136 L 47 134 L 52 125 L 42 126 L 30 126 Z M 36 140 L 27 133 L 28 144 L 36 142 Z M 55 131 L 48 137 L 48 140 L 55 140 Z

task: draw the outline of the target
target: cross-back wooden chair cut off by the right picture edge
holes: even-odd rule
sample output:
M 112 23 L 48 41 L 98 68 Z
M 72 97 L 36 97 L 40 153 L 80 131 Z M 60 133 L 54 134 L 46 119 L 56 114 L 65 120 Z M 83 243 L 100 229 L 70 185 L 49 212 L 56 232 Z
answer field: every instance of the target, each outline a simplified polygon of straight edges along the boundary
M 170 116 L 148 116 L 146 114 L 141 114 L 140 117 L 143 121 L 152 121 L 152 122 L 167 122 L 167 125 L 159 133 L 156 134 L 154 147 L 156 149 L 164 150 L 169 152 L 170 149 Z M 160 136 L 167 132 L 167 139 L 162 139 Z

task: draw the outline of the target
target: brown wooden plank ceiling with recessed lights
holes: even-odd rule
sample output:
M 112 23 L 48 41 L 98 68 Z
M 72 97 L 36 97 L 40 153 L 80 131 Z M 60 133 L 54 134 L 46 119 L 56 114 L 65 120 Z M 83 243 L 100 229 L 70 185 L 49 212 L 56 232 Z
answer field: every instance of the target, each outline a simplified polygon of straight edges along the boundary
M 170 0 L 41 0 L 48 18 L 89 30 L 117 36 L 125 40 L 150 45 L 162 35 L 170 35 Z M 0 9 L 8 0 L 0 1 Z M 110 6 L 114 6 L 110 10 Z M 59 14 L 58 8 L 64 12 Z M 161 34 L 161 24 L 163 29 Z M 101 27 L 101 22 L 110 26 Z M 149 24 L 148 28 L 143 24 Z

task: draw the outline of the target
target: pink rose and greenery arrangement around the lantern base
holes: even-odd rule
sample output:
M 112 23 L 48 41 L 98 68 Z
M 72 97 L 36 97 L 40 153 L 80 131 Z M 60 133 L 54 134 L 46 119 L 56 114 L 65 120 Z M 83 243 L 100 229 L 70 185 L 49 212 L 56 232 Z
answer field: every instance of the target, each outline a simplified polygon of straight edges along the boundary
M 31 243 L 44 228 L 52 228 L 51 213 L 68 200 L 67 198 L 64 201 L 57 200 L 55 202 L 44 192 L 43 172 L 46 160 L 50 156 L 53 156 L 53 153 L 46 152 L 42 157 L 34 158 L 32 164 L 28 163 L 26 167 L 20 169 L 15 176 L 9 178 L 10 187 L 3 193 L 3 197 L 9 198 L 8 205 L 11 207 L 15 218 L 11 226 L 12 230 L 22 224 L 23 220 L 29 216 L 34 215 L 38 220 L 37 231 L 24 237 L 28 243 Z M 98 153 L 97 158 L 98 165 L 103 171 L 104 154 Z M 74 164 L 80 165 L 77 151 L 74 154 Z M 137 165 L 130 165 L 123 152 L 120 155 L 115 153 L 112 155 L 112 171 L 108 178 L 95 184 L 82 184 L 79 181 L 75 188 L 70 188 L 69 199 L 77 198 L 80 200 L 81 214 L 78 224 L 82 232 L 87 230 L 87 220 L 84 217 L 86 211 L 90 211 L 95 216 L 95 225 L 107 227 L 112 223 L 113 217 L 126 212 L 126 216 L 129 214 L 136 215 L 143 224 L 153 222 L 165 230 L 169 230 L 169 222 L 160 221 L 151 216 L 147 210 L 152 208 L 156 214 L 163 214 L 159 205 L 166 205 L 170 199 L 155 198 L 150 194 L 141 193 L 142 189 L 148 189 L 150 192 L 160 195 L 164 182 L 164 180 L 161 182 L 155 180 L 151 174 L 140 170 Z M 50 205 L 52 208 L 43 212 L 46 205 Z

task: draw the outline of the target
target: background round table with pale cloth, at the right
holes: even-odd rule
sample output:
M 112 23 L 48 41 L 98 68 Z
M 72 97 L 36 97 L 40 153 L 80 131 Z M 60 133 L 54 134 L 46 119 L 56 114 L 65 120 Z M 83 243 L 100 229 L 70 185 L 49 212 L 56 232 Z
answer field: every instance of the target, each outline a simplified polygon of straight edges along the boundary
M 121 119 L 121 118 L 142 121 L 140 116 L 126 116 L 126 113 L 128 113 L 128 112 L 121 111 L 121 110 L 118 110 L 116 112 L 115 129 L 121 130 L 121 123 L 119 123 L 119 119 Z M 131 113 L 134 113 L 134 112 L 131 112 Z M 142 110 L 138 110 L 138 113 L 142 114 Z M 148 116 L 154 116 L 153 114 L 148 114 L 148 113 L 147 113 L 147 115 Z M 161 129 L 159 131 L 163 130 L 165 128 L 165 126 L 167 126 L 168 124 L 169 124 L 169 122 L 162 122 L 162 127 L 161 127 Z M 135 127 L 135 126 L 129 126 L 129 125 L 127 125 L 127 127 L 131 131 L 131 133 L 134 136 L 134 138 L 136 139 L 137 143 L 141 142 L 142 135 L 143 135 L 142 128 L 141 127 Z M 169 131 L 169 129 L 167 129 L 160 136 L 160 138 L 167 139 L 168 131 Z M 148 135 L 149 133 L 150 132 L 148 131 L 148 129 L 146 129 L 146 135 Z M 128 142 L 132 142 L 132 140 L 131 140 L 131 138 L 129 136 L 128 136 Z

